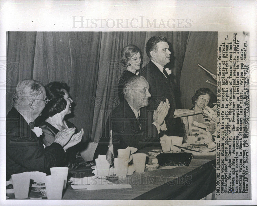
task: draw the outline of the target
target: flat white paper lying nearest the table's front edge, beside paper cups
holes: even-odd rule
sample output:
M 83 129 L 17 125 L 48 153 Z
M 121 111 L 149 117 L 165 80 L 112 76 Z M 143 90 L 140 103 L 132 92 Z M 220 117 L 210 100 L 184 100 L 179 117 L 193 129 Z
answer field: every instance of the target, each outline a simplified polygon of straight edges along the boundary
M 104 190 L 104 189 L 127 189 L 131 188 L 130 184 L 97 184 L 97 185 L 71 185 L 72 189 L 87 189 L 87 190 Z

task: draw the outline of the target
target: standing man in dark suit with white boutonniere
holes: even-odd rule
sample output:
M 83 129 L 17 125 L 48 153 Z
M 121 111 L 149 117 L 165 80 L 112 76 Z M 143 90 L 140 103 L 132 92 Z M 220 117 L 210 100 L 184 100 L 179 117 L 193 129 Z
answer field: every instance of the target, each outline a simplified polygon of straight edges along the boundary
M 159 101 L 169 100 L 170 109 L 165 121 L 168 128 L 167 135 L 172 136 L 175 128 L 175 122 L 172 119 L 176 100 L 172 81 L 168 74 L 169 69 L 164 67 L 170 62 L 171 52 L 169 51 L 169 44 L 165 37 L 153 36 L 146 43 L 145 50 L 150 61 L 142 68 L 141 76 L 145 77 L 150 86 L 152 97 L 149 99 L 148 107 L 156 109 Z

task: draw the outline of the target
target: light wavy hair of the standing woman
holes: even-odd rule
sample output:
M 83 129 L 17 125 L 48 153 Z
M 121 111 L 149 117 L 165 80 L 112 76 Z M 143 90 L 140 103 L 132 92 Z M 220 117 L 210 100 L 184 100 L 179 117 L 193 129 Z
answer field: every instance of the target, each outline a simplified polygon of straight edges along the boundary
M 140 53 L 141 58 L 141 50 L 136 45 L 129 44 L 125 46 L 121 51 L 121 64 L 124 67 L 129 67 L 130 63 L 128 63 L 128 60 L 132 59 L 138 52 Z

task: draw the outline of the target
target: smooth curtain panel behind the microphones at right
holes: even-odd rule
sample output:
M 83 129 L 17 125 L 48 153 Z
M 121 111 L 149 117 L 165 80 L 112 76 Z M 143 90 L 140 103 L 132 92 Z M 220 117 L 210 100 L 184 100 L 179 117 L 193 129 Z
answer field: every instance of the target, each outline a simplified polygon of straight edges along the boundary
M 191 98 L 201 87 L 209 88 L 217 94 L 217 88 L 206 83 L 206 80 L 216 83 L 214 79 L 197 66 L 201 64 L 217 75 L 217 44 L 218 32 L 189 33 L 180 79 L 182 108 L 190 109 L 193 106 Z

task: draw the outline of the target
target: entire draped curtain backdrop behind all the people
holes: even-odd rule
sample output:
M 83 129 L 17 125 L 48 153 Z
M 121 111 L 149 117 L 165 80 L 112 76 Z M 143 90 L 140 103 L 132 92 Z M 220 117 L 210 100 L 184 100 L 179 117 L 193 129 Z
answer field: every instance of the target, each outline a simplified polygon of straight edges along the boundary
M 185 108 L 184 101 L 191 99 L 193 88 L 198 87 L 202 78 L 199 74 L 204 73 L 197 63 L 191 62 L 198 55 L 205 55 L 205 62 L 217 69 L 215 32 L 8 32 L 6 112 L 14 104 L 13 92 L 19 81 L 32 78 L 43 85 L 51 81 L 66 82 L 76 103 L 75 116 L 69 120 L 78 129 L 84 128 L 84 142 L 98 142 L 102 125 L 119 103 L 116 91 L 122 70 L 118 62 L 121 50 L 127 44 L 137 45 L 145 65 L 149 61 L 145 44 L 151 36 L 168 39 L 171 62 L 166 67 L 172 70 L 180 91 L 177 100 L 182 104 L 178 108 Z M 205 62 L 199 63 L 206 66 Z M 191 70 L 195 70 L 194 76 L 190 76 Z M 195 81 L 189 84 L 184 76 Z

